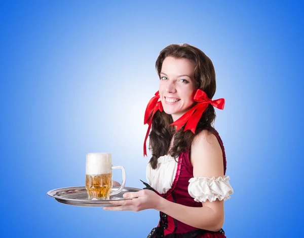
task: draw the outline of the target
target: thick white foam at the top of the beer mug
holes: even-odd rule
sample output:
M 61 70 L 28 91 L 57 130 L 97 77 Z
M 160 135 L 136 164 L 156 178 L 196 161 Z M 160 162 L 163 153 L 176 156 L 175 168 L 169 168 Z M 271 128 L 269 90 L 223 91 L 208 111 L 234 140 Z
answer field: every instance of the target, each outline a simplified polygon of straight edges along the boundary
M 86 158 L 86 175 L 110 174 L 112 171 L 110 153 L 89 153 Z

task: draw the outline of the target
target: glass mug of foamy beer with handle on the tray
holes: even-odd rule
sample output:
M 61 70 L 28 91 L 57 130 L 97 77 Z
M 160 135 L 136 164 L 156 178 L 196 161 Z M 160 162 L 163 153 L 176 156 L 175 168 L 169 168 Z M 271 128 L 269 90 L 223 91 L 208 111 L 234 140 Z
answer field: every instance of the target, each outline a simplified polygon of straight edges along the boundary
M 112 190 L 112 169 L 122 169 L 123 182 L 116 191 Z M 125 168 L 112 166 L 110 153 L 88 153 L 86 158 L 86 189 L 89 200 L 105 200 L 120 193 L 126 184 Z

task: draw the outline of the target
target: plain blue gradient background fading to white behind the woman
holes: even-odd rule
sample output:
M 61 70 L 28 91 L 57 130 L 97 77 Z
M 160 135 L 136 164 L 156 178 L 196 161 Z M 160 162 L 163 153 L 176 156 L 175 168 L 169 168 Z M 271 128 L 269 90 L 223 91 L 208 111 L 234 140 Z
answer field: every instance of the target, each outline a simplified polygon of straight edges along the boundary
M 215 127 L 235 190 L 227 237 L 302 235 L 303 6 L 209 2 L 0 3 L 2 237 L 137 238 L 157 225 L 157 211 L 73 207 L 46 193 L 83 186 L 88 152 L 111 152 L 126 186 L 142 187 L 143 113 L 172 43 L 212 59 L 214 99 L 226 100 Z

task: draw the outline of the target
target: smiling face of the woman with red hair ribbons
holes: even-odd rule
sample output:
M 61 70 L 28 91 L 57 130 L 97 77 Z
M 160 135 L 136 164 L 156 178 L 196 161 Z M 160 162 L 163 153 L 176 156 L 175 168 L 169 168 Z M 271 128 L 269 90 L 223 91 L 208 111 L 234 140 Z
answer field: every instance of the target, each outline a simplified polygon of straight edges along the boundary
M 166 57 L 160 79 L 160 99 L 165 113 L 172 115 L 173 121 L 180 118 L 195 103 L 195 64 L 188 59 Z

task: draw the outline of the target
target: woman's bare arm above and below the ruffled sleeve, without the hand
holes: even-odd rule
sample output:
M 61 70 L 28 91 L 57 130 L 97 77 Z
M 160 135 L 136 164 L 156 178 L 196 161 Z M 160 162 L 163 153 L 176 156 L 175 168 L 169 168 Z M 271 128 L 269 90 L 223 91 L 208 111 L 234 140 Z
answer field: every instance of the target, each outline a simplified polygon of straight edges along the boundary
M 194 177 L 223 177 L 222 150 L 214 134 L 203 130 L 191 147 Z M 224 201 L 205 201 L 202 208 L 192 208 L 162 199 L 160 211 L 194 227 L 217 231 L 224 222 Z

